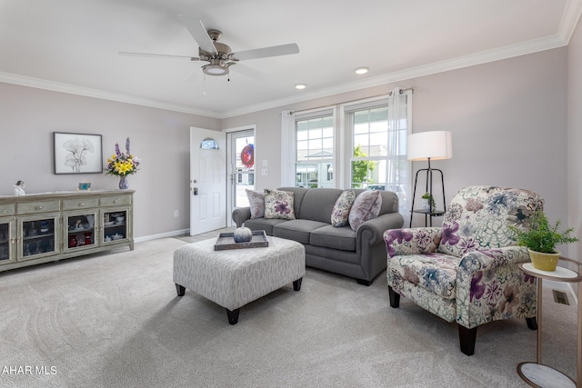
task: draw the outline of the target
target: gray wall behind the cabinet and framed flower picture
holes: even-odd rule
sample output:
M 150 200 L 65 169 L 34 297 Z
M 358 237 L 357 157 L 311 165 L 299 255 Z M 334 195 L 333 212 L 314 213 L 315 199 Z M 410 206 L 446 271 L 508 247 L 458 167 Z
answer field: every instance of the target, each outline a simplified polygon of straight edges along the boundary
M 218 130 L 219 120 L 2 83 L 0 106 L 0 194 L 14 194 L 16 180 L 25 181 L 26 193 L 75 190 L 84 179 L 116 189 L 112 175 L 53 174 L 53 132 L 102 134 L 104 163 L 129 136 L 142 160 L 128 177 L 136 191 L 135 236 L 189 227 L 190 126 Z

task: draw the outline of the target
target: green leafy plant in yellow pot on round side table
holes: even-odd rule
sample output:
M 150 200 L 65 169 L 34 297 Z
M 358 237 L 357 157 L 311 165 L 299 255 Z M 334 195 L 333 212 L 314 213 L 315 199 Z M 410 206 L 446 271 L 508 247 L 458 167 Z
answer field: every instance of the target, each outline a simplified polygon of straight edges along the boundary
M 534 268 L 542 271 L 556 271 L 560 252 L 556 250 L 557 244 L 570 244 L 578 241 L 577 237 L 570 235 L 574 228 L 559 231 L 561 220 L 556 224 L 549 224 L 547 215 L 543 211 L 535 212 L 529 218 L 529 228 L 519 229 L 515 225 L 509 225 L 509 229 L 516 234 L 517 244 L 526 246 Z

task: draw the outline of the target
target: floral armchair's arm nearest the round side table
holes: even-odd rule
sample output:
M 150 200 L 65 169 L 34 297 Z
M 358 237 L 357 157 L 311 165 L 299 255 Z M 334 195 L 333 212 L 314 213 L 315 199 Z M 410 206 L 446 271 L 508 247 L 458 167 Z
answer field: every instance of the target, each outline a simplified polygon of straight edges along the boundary
M 457 323 L 470 329 L 498 319 L 535 317 L 536 278 L 518 268 L 528 261 L 521 246 L 466 254 L 457 271 Z

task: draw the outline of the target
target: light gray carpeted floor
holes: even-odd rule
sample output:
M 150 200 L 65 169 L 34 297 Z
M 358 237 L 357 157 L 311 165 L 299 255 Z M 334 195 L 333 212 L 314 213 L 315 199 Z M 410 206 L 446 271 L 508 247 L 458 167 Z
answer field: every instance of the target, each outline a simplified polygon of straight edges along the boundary
M 455 324 L 405 298 L 390 308 L 384 274 L 366 287 L 307 268 L 300 292 L 249 303 L 231 326 L 215 303 L 176 296 L 173 253 L 194 240 L 1 273 L 0 386 L 527 386 L 516 368 L 535 361 L 537 333 L 525 320 L 481 326 L 467 357 Z M 576 305 L 549 288 L 544 303 L 543 361 L 575 377 Z

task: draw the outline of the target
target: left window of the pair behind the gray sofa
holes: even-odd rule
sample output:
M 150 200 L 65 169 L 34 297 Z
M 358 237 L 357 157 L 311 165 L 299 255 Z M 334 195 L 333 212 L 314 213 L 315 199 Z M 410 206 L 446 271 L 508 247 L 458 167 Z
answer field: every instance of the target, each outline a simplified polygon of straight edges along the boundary
M 296 115 L 295 185 L 335 187 L 334 120 L 332 110 Z M 331 170 L 331 171 L 330 171 Z

